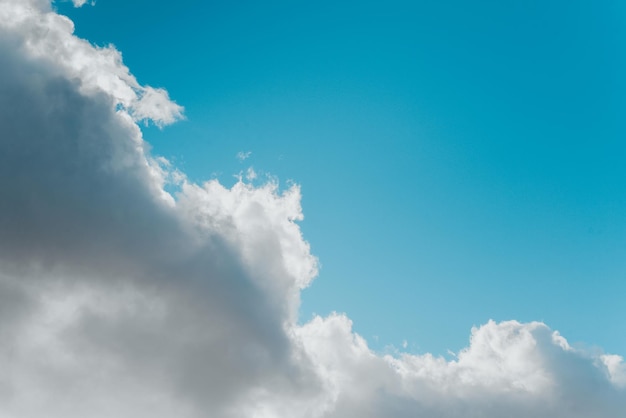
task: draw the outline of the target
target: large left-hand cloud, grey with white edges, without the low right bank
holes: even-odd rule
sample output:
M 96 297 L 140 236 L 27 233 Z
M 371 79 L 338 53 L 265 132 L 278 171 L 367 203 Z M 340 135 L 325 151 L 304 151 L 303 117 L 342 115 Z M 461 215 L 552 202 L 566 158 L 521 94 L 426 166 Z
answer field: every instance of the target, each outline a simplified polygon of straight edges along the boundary
M 298 387 L 286 326 L 316 263 L 298 188 L 183 178 L 175 201 L 136 122 L 179 108 L 142 107 L 151 90 L 65 18 L 0 6 L 0 293 L 19 301 L 0 416 L 220 416 L 261 383 Z

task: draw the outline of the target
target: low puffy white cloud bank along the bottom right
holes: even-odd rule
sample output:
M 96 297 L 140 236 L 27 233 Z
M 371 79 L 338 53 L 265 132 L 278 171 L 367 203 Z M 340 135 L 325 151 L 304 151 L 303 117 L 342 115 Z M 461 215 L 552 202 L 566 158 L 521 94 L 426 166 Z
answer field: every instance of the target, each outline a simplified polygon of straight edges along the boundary
M 345 315 L 300 330 L 323 376 L 326 417 L 619 417 L 626 410 L 610 361 L 575 350 L 542 323 L 474 328 L 447 361 L 430 354 L 378 356 Z M 623 359 L 613 358 L 622 367 Z

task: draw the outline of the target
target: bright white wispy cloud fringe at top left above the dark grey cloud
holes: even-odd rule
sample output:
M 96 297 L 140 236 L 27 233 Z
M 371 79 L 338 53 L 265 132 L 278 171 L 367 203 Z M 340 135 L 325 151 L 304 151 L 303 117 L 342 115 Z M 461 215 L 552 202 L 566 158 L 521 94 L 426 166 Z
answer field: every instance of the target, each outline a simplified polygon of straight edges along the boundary
M 122 63 L 112 45 L 94 47 L 73 35 L 74 24 L 54 13 L 43 0 L 3 0 L 0 25 L 23 41 L 25 53 L 48 62 L 63 76 L 80 80 L 84 94 L 106 94 L 135 120 L 159 126 L 182 117 L 183 108 L 169 100 L 167 92 L 141 86 Z

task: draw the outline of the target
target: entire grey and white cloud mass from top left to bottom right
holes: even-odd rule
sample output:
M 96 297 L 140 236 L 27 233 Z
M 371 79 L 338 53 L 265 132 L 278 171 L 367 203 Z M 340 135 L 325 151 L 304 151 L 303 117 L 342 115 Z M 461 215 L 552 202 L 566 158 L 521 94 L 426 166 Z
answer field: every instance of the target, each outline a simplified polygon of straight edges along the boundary
M 299 188 L 150 156 L 137 122 L 182 108 L 72 30 L 0 0 L 0 416 L 624 415 L 622 358 L 542 323 L 485 324 L 454 361 L 379 356 L 344 315 L 297 325 Z

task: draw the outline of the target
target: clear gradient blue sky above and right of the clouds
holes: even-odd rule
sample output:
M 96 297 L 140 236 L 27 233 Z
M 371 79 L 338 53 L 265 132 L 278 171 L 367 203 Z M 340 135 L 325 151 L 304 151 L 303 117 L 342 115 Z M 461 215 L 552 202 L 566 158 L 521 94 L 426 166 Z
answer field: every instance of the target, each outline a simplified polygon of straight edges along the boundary
M 490 318 L 541 320 L 626 354 L 623 2 L 57 8 L 185 106 L 146 129 L 156 154 L 301 184 L 322 264 L 303 320 L 347 312 L 376 349 L 441 354 Z

